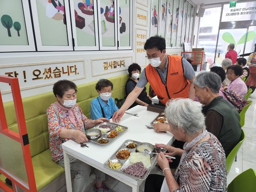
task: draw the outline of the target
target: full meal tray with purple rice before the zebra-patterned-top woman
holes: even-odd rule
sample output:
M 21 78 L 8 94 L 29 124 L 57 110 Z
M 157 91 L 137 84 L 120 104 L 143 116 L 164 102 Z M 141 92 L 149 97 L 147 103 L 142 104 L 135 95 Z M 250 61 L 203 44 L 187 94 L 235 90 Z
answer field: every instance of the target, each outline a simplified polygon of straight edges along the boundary
M 155 153 L 159 153 L 161 150 L 156 149 L 152 144 L 128 139 L 104 163 L 104 167 L 131 176 L 134 179 L 146 179 L 153 165 L 155 165 L 158 155 L 148 155 L 144 152 L 145 149 Z

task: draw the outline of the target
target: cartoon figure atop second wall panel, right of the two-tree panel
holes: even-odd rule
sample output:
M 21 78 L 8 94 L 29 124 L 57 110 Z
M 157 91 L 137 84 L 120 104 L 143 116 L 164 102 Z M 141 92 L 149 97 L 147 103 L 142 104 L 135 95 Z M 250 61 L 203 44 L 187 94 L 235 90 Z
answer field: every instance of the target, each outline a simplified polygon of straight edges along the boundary
M 48 0 L 46 5 L 46 15 L 54 20 L 63 20 L 65 8 L 59 0 Z

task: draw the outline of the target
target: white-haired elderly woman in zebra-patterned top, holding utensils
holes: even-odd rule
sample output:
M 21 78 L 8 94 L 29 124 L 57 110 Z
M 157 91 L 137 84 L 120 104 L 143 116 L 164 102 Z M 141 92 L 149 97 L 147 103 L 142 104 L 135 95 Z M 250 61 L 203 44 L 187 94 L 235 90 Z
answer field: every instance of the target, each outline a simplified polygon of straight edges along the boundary
M 161 189 L 154 186 L 152 177 L 145 183 L 144 192 L 185 192 L 185 191 L 226 191 L 226 161 L 225 153 L 219 140 L 205 129 L 205 121 L 200 107 L 190 99 L 176 99 L 167 104 L 165 115 L 170 126 L 170 132 L 177 140 L 186 142 L 182 149 L 165 144 L 155 144 L 163 147 L 168 153 L 160 153 L 160 165 L 165 178 Z M 173 176 L 166 155 L 181 155 L 180 164 Z M 159 179 L 155 178 L 155 181 Z

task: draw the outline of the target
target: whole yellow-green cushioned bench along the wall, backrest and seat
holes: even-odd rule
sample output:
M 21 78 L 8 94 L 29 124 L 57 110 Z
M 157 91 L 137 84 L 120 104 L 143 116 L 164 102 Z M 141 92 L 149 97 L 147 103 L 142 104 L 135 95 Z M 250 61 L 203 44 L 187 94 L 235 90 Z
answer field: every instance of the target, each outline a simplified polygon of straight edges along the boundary
M 109 78 L 109 80 L 113 83 L 113 98 L 120 99 L 126 96 L 125 84 L 128 80 L 128 75 L 119 75 Z M 77 86 L 77 103 L 88 118 L 90 117 L 91 100 L 98 96 L 95 90 L 96 82 Z M 149 84 L 146 87 L 148 88 Z M 51 152 L 49 150 L 46 109 L 55 101 L 56 97 L 52 91 L 22 99 L 37 191 L 47 191 L 48 189 L 45 187 L 54 180 L 57 181 L 59 176 L 64 175 L 64 168 L 51 159 Z M 13 102 L 4 103 L 4 107 L 8 128 L 17 132 L 18 128 Z M 4 181 L 5 177 L 0 176 L 0 180 Z M 58 186 L 59 182 L 54 187 L 56 185 L 59 189 L 63 187 Z M 59 189 L 56 188 L 55 190 L 58 191 Z

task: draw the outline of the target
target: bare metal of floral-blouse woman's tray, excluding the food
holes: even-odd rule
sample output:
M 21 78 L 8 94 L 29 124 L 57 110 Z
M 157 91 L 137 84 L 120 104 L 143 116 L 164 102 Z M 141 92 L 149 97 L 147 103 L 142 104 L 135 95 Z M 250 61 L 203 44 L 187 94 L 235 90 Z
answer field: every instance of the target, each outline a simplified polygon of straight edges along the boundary
M 127 132 L 127 129 L 128 129 L 128 127 L 125 127 L 125 126 L 123 126 L 123 125 L 118 125 L 118 124 L 116 124 L 116 123 L 110 123 L 110 122 L 103 122 L 103 123 L 101 123 L 101 124 L 96 125 L 96 126 L 93 127 L 93 128 L 99 128 L 101 125 L 111 125 L 111 126 L 113 126 L 113 128 L 112 128 L 111 130 L 115 130 L 115 129 L 117 128 L 117 126 L 120 126 L 120 127 L 124 128 L 125 130 L 124 130 L 124 131 L 121 131 L 121 132 L 117 132 L 118 135 L 117 135 L 117 137 L 115 137 L 115 138 L 107 138 L 106 133 L 102 133 L 101 136 L 100 136 L 99 138 L 97 138 L 97 139 L 88 139 L 89 142 L 92 142 L 92 143 L 95 143 L 95 144 L 98 144 L 98 145 L 101 145 L 101 146 L 105 146 L 105 145 L 107 145 L 107 144 L 111 144 L 113 141 L 115 141 L 115 140 L 116 140 L 117 138 L 119 138 L 121 135 L 123 135 L 124 133 L 126 133 L 126 132 Z M 101 139 L 101 138 L 107 138 L 107 139 L 109 139 L 109 142 L 106 143 L 106 144 L 100 144 L 100 143 L 98 143 L 97 140 L 98 140 L 98 139 Z

